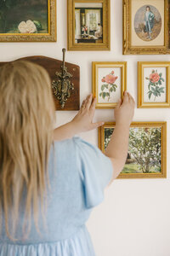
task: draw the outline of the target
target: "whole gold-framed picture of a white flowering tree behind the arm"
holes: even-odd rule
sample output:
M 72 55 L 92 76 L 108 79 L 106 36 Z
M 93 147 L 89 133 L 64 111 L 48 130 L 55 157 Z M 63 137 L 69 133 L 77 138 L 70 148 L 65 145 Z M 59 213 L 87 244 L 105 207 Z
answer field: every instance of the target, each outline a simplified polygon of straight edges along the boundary
M 111 140 L 115 123 L 99 127 L 99 148 Z M 126 164 L 118 178 L 167 177 L 167 123 L 132 123 Z

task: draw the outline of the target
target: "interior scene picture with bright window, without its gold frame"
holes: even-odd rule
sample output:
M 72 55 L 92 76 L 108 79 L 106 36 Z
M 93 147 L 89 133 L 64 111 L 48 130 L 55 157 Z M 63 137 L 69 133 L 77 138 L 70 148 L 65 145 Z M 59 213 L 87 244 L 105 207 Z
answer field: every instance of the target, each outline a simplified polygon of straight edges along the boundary
M 75 44 L 103 44 L 103 3 L 75 3 Z

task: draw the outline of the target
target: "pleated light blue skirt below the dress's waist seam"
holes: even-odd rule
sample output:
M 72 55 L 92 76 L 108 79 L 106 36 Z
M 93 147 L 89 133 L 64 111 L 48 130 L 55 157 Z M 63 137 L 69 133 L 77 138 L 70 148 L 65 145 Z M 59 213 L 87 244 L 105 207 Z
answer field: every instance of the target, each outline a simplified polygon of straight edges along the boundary
M 0 256 L 95 256 L 86 227 L 69 239 L 57 242 L 18 245 L 0 243 Z

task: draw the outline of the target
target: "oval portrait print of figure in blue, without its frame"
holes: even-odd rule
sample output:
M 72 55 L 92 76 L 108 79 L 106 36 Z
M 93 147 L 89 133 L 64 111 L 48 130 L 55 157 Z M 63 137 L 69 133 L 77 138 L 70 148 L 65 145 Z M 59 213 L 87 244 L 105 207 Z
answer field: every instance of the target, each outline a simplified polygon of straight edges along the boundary
M 131 0 L 131 45 L 165 45 L 165 1 Z

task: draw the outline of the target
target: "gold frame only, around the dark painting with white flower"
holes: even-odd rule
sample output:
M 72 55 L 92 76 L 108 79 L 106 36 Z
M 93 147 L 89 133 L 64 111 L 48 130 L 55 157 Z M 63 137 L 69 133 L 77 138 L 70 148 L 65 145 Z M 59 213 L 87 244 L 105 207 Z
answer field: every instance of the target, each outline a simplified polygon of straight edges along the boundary
M 0 33 L 0 42 L 56 42 L 56 1 L 48 0 L 48 33 Z

